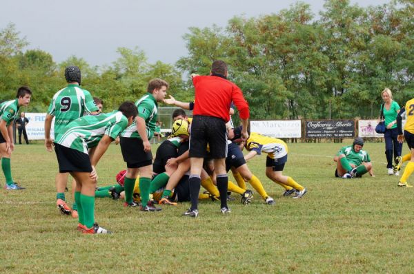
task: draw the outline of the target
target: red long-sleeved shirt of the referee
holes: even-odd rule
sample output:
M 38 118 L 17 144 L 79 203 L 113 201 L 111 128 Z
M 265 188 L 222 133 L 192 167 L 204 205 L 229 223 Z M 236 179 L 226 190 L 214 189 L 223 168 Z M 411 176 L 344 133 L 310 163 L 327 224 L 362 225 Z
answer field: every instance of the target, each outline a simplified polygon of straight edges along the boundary
M 233 101 L 239 116 L 248 119 L 250 112 L 242 90 L 234 83 L 219 76 L 195 76 L 195 103 L 193 115 L 204 115 L 230 120 L 230 104 Z

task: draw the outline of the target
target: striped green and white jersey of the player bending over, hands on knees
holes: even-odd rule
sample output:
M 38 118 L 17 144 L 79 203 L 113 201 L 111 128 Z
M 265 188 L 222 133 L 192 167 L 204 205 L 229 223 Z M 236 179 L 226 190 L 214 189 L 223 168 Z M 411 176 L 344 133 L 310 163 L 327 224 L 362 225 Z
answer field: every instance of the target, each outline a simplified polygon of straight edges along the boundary
M 88 149 L 96 147 L 103 135 L 115 139 L 127 126 L 128 119 L 117 110 L 108 114 L 86 115 L 64 127 L 55 143 L 88 154 Z

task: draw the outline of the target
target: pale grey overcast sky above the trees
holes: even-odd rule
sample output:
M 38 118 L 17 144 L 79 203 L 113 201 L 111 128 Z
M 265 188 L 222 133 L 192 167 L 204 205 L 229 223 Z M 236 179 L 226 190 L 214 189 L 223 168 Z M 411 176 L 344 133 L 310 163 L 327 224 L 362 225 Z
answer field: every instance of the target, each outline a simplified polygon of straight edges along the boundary
M 289 8 L 294 0 L 2 0 L 0 29 L 10 22 L 28 48 L 52 54 L 61 62 L 72 54 L 90 65 L 110 64 L 119 47 L 144 50 L 148 61 L 175 63 L 187 50 L 182 36 L 189 27 L 224 27 L 235 15 L 257 17 Z M 323 0 L 305 0 L 314 14 Z M 351 0 L 359 6 L 385 0 Z

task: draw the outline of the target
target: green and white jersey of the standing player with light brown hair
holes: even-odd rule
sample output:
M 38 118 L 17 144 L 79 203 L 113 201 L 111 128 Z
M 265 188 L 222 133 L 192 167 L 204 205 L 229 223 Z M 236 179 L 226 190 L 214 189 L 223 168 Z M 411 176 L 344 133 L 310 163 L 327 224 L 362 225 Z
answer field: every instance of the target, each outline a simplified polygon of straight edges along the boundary
M 155 131 L 155 123 L 157 123 L 157 116 L 158 116 L 158 104 L 157 100 L 155 100 L 154 96 L 150 93 L 144 94 L 135 105 L 138 109 L 138 116 L 144 118 L 146 124 L 146 131 L 148 140 L 154 136 Z M 134 122 L 132 125 L 127 127 L 121 133 L 122 137 L 126 138 L 141 138 L 137 131 L 137 123 Z

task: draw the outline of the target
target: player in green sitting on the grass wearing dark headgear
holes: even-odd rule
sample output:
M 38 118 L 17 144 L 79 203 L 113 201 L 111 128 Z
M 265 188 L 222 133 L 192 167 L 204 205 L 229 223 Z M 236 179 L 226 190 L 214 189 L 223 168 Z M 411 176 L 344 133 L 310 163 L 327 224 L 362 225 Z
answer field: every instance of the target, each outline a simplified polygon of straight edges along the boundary
M 362 150 L 362 147 L 364 147 L 364 139 L 358 137 L 355 138 L 352 145 L 339 149 L 333 158 L 337 162 L 335 177 L 351 179 L 361 177 L 367 172 L 375 177 L 371 158 L 369 158 L 368 152 Z

